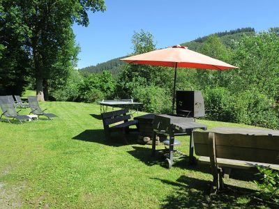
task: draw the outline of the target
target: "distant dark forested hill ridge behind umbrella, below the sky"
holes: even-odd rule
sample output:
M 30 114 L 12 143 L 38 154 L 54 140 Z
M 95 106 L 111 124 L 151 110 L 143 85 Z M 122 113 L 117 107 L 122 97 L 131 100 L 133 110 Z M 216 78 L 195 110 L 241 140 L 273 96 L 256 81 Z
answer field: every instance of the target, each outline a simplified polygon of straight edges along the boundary
M 227 45 L 227 47 L 232 47 L 233 42 L 240 40 L 241 36 L 243 36 L 244 33 L 247 36 L 254 36 L 255 29 L 247 27 L 247 28 L 235 29 L 235 30 L 231 30 L 231 31 L 218 32 L 218 33 L 214 33 L 214 35 L 218 36 L 220 38 L 220 40 L 225 45 Z M 199 51 L 199 49 L 203 45 L 203 42 L 209 36 L 199 37 L 190 42 L 181 43 L 181 45 L 187 46 L 189 49 L 192 49 L 194 51 Z M 124 64 L 123 61 L 119 60 L 121 58 L 123 58 L 123 57 L 112 59 L 110 61 L 106 61 L 105 63 L 98 63 L 98 65 L 96 65 L 96 66 L 92 65 L 92 66 L 89 66 L 86 68 L 81 68 L 80 70 L 82 70 L 84 72 L 91 72 L 91 73 L 100 73 L 100 72 L 103 72 L 104 70 L 108 70 L 108 71 L 112 72 L 112 75 L 114 77 L 116 77 L 119 74 L 119 71 L 121 70 L 120 66 Z

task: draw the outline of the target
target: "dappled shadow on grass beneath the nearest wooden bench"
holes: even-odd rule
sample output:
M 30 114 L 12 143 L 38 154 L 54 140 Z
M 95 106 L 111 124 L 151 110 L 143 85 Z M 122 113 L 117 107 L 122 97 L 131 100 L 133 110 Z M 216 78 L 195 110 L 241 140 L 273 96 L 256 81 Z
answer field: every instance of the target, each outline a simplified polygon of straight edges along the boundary
M 181 176 L 175 182 L 160 180 L 162 183 L 176 187 L 169 194 L 160 208 L 261 208 L 267 206 L 276 208 L 273 203 L 266 203 L 255 197 L 255 190 L 226 185 L 226 188 L 216 195 L 209 195 L 211 181 L 199 180 Z

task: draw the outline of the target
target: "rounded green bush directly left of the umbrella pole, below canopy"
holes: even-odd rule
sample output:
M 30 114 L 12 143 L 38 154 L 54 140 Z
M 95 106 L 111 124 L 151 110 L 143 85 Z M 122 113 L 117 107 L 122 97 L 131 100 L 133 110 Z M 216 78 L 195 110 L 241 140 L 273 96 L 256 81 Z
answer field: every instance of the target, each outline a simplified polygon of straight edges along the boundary
M 134 89 L 132 97 L 135 100 L 143 102 L 143 111 L 170 113 L 172 110 L 172 97 L 164 88 L 157 86 L 138 86 Z

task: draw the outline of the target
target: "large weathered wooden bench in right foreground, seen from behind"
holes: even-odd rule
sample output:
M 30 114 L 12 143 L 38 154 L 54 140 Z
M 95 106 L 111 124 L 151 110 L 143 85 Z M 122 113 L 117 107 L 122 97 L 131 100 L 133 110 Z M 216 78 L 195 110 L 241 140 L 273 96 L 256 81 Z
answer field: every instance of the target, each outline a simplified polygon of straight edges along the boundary
M 223 189 L 223 175 L 230 169 L 264 166 L 279 170 L 279 131 L 217 127 L 194 131 L 199 161 L 211 165 L 211 193 Z

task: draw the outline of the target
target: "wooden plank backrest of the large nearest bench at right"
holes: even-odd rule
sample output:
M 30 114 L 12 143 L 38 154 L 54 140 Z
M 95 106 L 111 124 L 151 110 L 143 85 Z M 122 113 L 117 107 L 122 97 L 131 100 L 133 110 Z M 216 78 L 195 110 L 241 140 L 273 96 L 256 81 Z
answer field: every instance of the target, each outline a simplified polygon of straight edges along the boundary
M 193 132 L 195 153 L 231 160 L 279 164 L 279 136 Z

